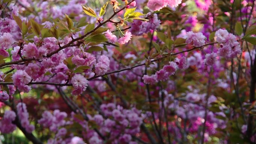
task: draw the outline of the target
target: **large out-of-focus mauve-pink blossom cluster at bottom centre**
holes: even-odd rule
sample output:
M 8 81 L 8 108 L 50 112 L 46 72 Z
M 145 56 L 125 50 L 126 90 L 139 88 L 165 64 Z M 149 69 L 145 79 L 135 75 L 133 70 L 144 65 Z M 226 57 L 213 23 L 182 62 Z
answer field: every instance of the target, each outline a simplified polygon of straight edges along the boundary
M 137 144 L 132 141 L 132 136 L 140 132 L 140 125 L 143 120 L 141 111 L 136 108 L 124 109 L 122 106 L 116 106 L 113 103 L 102 104 L 100 108 L 104 114 L 103 116 L 100 114 L 95 114 L 93 117 L 88 116 L 100 127 L 99 131 L 102 135 L 109 137 L 112 144 Z M 94 131 L 88 133 L 87 137 L 90 144 L 101 144 L 103 142 Z

